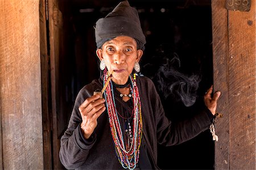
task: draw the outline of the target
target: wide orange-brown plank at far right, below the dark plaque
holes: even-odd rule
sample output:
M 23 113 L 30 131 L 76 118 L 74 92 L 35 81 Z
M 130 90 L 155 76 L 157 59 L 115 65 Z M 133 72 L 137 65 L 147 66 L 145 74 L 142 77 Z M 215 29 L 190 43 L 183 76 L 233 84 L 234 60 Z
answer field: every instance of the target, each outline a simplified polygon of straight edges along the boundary
M 249 12 L 228 12 L 230 169 L 256 169 L 255 11 L 251 1 Z

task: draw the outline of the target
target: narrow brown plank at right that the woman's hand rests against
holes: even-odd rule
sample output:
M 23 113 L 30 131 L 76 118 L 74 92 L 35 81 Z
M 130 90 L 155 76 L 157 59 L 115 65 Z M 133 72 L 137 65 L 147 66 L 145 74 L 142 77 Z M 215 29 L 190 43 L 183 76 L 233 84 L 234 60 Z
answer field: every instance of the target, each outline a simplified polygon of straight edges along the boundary
M 215 123 L 215 169 L 229 169 L 229 73 L 228 73 L 228 11 L 225 1 L 212 1 L 213 81 L 214 90 L 221 91 L 217 111 L 224 115 Z

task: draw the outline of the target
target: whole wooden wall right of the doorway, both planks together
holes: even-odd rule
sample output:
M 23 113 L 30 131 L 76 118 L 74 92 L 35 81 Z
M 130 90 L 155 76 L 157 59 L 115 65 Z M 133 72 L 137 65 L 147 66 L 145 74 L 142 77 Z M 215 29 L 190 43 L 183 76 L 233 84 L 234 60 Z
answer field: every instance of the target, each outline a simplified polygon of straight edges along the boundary
M 225 9 L 212 1 L 214 88 L 221 90 L 216 122 L 216 169 L 256 169 L 256 8 Z

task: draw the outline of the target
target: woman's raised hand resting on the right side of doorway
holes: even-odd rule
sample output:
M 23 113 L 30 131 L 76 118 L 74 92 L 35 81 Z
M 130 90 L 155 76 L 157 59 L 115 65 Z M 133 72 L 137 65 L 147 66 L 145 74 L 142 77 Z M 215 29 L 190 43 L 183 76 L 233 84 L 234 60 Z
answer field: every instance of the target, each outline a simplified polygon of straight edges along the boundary
M 220 98 L 221 92 L 215 92 L 213 94 L 213 97 L 211 96 L 212 92 L 213 86 L 210 86 L 210 88 L 207 90 L 207 93 L 204 96 L 204 104 L 208 107 L 210 112 L 212 112 L 212 114 L 215 115 L 217 109 L 217 101 L 218 98 Z

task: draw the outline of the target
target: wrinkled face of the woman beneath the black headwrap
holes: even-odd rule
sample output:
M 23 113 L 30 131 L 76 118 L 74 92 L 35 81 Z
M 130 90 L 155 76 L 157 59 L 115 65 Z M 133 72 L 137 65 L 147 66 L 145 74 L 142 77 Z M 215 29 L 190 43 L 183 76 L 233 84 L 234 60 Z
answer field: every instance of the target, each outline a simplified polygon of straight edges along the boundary
M 125 84 L 136 62 L 139 62 L 143 51 L 137 50 L 137 43 L 129 36 L 118 36 L 97 49 L 97 56 L 104 60 L 108 71 L 112 73 L 112 80 L 116 84 Z

